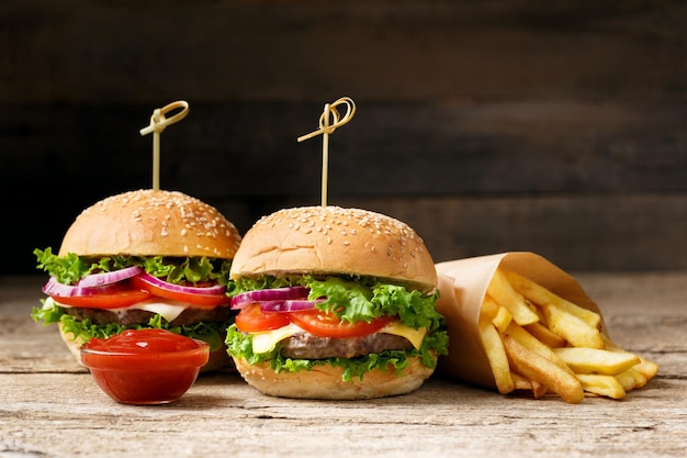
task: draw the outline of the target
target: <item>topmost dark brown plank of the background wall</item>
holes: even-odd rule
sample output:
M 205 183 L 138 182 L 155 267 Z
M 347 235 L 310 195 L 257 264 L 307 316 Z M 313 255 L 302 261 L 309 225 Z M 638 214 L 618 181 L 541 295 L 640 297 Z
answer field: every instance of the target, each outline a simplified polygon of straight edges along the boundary
M 684 100 L 682 2 L 5 3 L 5 103 Z

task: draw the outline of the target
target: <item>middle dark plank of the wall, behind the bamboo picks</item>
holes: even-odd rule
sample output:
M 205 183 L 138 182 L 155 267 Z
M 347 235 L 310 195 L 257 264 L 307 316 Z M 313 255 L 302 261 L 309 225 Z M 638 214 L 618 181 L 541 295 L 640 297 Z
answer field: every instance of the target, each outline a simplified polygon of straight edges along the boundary
M 5 189 L 31 177 L 71 204 L 151 186 L 150 138 L 138 130 L 153 107 L 11 111 L 0 123 Z M 191 103 L 162 135 L 161 185 L 204 197 L 318 200 L 322 142 L 296 137 L 317 127 L 320 112 L 316 104 Z M 684 105 L 644 113 L 581 102 L 363 102 L 331 137 L 329 192 L 686 192 L 685 116 Z

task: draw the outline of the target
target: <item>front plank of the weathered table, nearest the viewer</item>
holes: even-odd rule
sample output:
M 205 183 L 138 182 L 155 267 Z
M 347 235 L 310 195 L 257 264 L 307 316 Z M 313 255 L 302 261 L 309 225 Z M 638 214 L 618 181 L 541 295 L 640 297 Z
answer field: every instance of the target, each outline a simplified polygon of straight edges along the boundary
M 24 455 L 199 456 L 230 447 L 240 457 L 327 450 L 331 457 L 558 458 L 594 450 L 651 458 L 682 456 L 686 439 L 684 407 L 666 399 L 687 388 L 674 379 L 638 390 L 626 402 L 590 398 L 571 406 L 555 399 L 505 399 L 442 380 L 401 398 L 294 401 L 214 376 L 174 404 L 142 409 L 115 404 L 86 375 L 0 377 L 13 400 L 0 420 L 0 449 Z M 56 392 L 58 399 L 46 395 Z M 77 434 L 83 439 L 75 440 Z

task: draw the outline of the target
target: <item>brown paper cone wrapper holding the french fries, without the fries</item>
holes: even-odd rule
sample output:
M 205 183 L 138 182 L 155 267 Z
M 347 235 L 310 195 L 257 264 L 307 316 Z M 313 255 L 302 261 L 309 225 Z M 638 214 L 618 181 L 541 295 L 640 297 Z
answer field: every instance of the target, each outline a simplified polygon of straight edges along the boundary
M 487 287 L 499 267 L 600 315 L 598 305 L 577 280 L 533 253 L 502 253 L 439 262 L 436 267 L 441 293 L 437 310 L 446 317 L 449 333 L 449 354 L 439 358 L 437 372 L 455 379 L 496 389 L 477 323 Z

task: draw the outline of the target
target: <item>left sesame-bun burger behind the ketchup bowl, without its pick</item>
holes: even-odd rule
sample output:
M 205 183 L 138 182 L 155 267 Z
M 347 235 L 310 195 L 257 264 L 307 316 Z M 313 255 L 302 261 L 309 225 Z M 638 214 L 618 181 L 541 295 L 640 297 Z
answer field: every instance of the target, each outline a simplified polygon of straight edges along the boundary
M 50 278 L 33 317 L 57 323 L 78 361 L 93 337 L 156 327 L 207 342 L 204 371 L 232 365 L 227 288 L 240 238 L 215 208 L 181 192 L 109 197 L 76 219 L 58 254 L 34 250 Z

